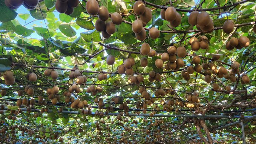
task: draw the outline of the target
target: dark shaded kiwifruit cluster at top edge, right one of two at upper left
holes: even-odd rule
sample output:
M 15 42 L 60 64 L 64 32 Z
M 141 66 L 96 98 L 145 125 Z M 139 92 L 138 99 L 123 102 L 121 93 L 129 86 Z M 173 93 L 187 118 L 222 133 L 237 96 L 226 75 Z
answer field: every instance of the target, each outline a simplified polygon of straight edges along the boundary
M 55 9 L 60 13 L 71 15 L 79 4 L 79 0 L 56 0 Z

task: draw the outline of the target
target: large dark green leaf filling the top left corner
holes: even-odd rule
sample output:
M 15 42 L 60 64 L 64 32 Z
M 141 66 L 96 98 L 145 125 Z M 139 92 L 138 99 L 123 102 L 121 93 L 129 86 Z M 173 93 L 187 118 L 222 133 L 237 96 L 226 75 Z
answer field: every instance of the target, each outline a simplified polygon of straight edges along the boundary
M 5 5 L 5 0 L 0 0 L 0 14 L 0 21 L 2 23 L 14 20 L 15 17 L 17 17 L 17 12 L 15 12 L 13 9 L 8 8 Z

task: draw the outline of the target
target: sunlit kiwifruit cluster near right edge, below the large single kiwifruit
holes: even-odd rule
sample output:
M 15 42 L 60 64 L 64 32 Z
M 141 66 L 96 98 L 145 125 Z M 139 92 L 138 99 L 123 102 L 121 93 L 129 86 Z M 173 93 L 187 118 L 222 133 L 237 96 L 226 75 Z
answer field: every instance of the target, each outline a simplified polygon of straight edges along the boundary
M 241 36 L 240 38 L 231 38 L 225 45 L 227 50 L 233 50 L 235 47 L 236 49 L 240 50 L 243 47 L 248 47 L 250 45 L 250 39 L 246 36 Z

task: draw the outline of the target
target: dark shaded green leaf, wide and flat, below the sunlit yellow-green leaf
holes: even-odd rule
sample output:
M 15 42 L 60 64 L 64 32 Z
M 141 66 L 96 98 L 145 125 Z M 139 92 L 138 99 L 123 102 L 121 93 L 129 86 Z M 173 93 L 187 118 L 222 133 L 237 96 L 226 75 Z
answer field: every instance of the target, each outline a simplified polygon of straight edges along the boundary
M 84 53 L 86 50 L 73 43 L 71 47 L 60 49 L 60 52 L 66 56 L 71 56 L 75 55 L 76 53 Z

